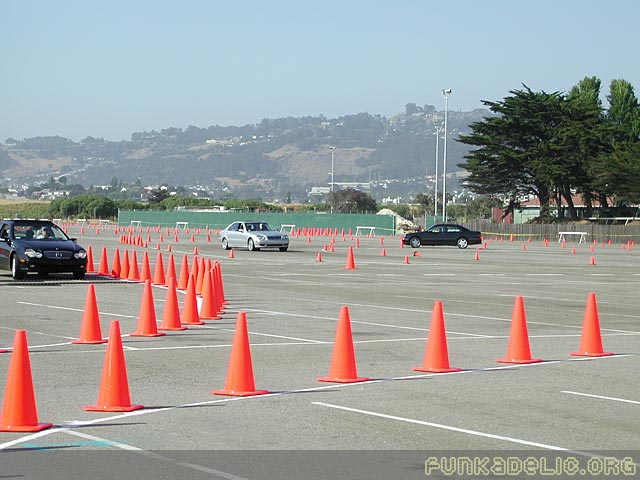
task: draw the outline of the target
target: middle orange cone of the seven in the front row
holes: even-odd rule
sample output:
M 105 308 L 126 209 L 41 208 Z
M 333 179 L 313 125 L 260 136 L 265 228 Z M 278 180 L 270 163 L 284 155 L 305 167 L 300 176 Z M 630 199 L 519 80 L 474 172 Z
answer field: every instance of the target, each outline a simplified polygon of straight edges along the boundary
M 369 379 L 358 377 L 358 373 L 356 372 L 356 357 L 353 351 L 349 308 L 343 305 L 340 307 L 340 316 L 338 317 L 338 326 L 333 343 L 329 375 L 326 377 L 318 377 L 318 381 L 355 383 L 366 382 L 367 380 Z

